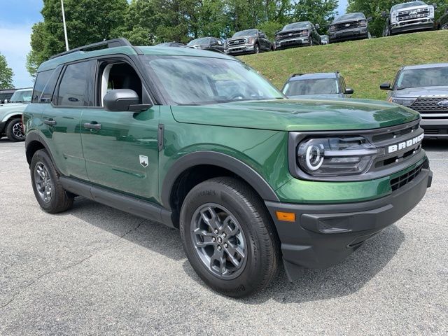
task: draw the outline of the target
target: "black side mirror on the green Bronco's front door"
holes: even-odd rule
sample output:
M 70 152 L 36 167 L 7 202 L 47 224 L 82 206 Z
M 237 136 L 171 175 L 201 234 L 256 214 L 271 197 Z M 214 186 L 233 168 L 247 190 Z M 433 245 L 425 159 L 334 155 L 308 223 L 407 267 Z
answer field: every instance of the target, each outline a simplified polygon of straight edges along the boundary
M 144 111 L 151 107 L 149 104 L 140 104 L 137 92 L 130 89 L 110 90 L 103 99 L 104 109 L 110 112 Z

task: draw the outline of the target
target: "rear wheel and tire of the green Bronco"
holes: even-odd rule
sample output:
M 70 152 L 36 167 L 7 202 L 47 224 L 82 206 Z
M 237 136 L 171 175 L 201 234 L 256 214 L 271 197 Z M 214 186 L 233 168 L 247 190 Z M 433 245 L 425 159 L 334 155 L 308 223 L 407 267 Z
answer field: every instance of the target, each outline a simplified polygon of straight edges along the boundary
M 74 197 L 62 188 L 59 174 L 47 151 L 41 149 L 34 153 L 30 174 L 34 196 L 44 211 L 57 214 L 71 208 Z

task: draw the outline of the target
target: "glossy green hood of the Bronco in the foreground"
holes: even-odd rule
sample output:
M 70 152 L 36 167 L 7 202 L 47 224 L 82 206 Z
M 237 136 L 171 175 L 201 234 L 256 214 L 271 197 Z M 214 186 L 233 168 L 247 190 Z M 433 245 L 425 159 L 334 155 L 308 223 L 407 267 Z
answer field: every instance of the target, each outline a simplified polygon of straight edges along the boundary
M 277 131 L 367 130 L 409 123 L 419 113 L 375 100 L 281 99 L 172 106 L 179 123 Z

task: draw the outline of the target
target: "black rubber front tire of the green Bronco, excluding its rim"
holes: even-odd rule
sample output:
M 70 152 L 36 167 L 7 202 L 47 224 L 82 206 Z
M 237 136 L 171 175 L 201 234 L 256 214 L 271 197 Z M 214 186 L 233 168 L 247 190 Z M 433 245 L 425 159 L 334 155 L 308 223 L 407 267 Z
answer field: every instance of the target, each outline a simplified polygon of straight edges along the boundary
M 246 265 L 235 279 L 220 279 L 211 274 L 195 251 L 190 235 L 190 225 L 195 211 L 203 204 L 216 203 L 228 209 L 241 226 L 246 238 Z M 181 237 L 190 264 L 200 278 L 211 288 L 230 296 L 245 296 L 257 290 L 263 279 L 264 265 L 260 260 L 260 239 L 257 228 L 260 219 L 253 216 L 251 207 L 235 190 L 216 181 L 206 181 L 188 194 L 181 211 Z

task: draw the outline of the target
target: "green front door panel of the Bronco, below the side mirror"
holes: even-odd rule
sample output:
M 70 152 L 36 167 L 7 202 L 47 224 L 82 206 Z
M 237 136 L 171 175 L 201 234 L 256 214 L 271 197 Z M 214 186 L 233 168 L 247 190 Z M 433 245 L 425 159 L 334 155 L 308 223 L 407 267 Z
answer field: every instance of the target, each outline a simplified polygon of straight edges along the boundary
M 80 125 L 89 180 L 156 202 L 159 119 L 159 106 L 139 113 L 84 109 Z M 100 124 L 101 129 L 89 130 L 85 123 Z M 147 157 L 146 167 L 140 155 Z

